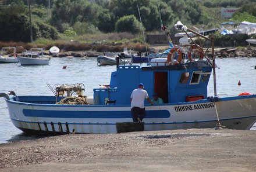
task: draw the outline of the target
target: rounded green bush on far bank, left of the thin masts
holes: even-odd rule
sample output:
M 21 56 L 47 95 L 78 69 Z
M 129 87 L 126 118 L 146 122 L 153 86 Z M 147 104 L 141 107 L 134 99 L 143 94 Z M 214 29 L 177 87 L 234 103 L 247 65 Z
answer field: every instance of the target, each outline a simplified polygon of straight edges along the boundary
M 131 32 L 132 34 L 137 34 L 140 32 L 140 22 L 136 19 L 134 15 L 121 17 L 116 22 L 117 32 Z

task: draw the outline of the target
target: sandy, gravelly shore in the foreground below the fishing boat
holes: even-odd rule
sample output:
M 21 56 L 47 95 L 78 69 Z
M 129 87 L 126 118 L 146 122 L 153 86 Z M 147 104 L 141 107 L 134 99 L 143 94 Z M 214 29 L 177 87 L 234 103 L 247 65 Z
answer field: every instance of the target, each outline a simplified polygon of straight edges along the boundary
M 255 171 L 255 130 L 68 134 L 0 144 L 0 171 Z

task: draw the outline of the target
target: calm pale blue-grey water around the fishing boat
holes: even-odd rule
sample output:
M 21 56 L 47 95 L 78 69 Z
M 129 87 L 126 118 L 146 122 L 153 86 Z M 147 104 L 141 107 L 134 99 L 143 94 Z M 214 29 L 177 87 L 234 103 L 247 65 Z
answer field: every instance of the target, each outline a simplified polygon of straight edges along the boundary
M 219 97 L 237 96 L 242 92 L 256 93 L 256 58 L 216 58 L 216 83 Z M 66 69 L 62 69 L 67 65 Z M 0 64 L 0 93 L 10 90 L 21 95 L 49 95 L 53 93 L 46 83 L 55 84 L 84 83 L 85 95 L 92 96 L 93 89 L 108 84 L 115 65 L 97 66 L 96 58 L 51 58 L 49 65 L 21 66 Z M 208 96 L 214 95 L 213 75 L 208 85 Z M 241 86 L 237 83 L 241 82 Z M 4 98 L 0 98 L 0 143 L 34 139 L 24 136 L 9 119 Z M 256 125 L 252 130 L 256 130 Z

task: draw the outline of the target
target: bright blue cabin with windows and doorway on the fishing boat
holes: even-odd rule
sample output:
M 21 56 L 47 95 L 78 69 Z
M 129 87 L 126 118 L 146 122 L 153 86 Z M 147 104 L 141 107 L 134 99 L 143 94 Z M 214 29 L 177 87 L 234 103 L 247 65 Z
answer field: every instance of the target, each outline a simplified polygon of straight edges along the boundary
M 112 72 L 108 87 L 94 89 L 94 104 L 129 105 L 138 83 L 144 84 L 150 98 L 158 93 L 164 103 L 200 100 L 207 97 L 211 71 L 207 61 L 156 67 L 120 65 Z

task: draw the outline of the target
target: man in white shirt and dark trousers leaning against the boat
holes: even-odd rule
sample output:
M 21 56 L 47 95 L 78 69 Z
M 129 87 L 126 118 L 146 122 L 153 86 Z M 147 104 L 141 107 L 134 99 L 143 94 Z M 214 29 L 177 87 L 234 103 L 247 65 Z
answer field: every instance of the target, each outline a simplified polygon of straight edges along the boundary
M 131 93 L 131 115 L 133 122 L 141 122 L 146 115 L 144 100 L 147 99 L 150 104 L 153 104 L 148 93 L 144 90 L 143 83 L 138 85 L 138 88 Z

